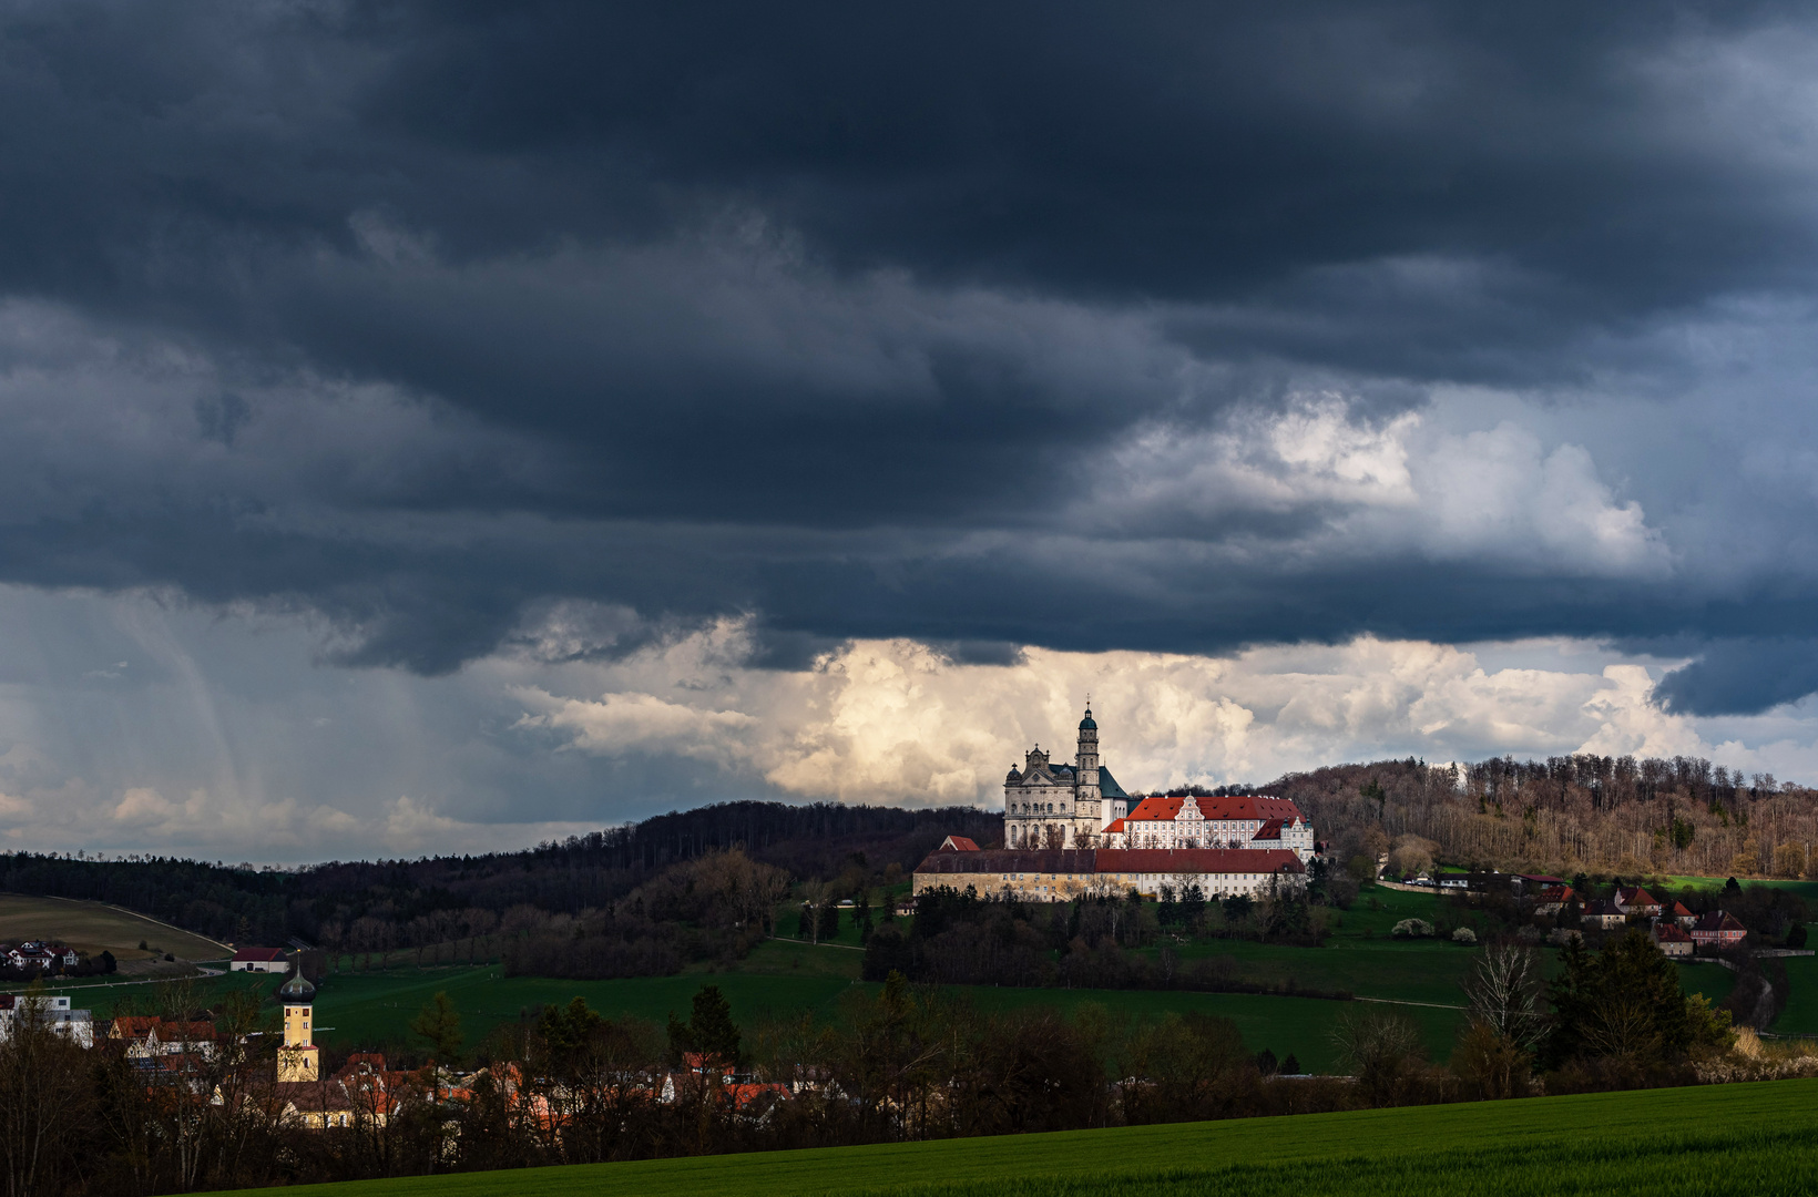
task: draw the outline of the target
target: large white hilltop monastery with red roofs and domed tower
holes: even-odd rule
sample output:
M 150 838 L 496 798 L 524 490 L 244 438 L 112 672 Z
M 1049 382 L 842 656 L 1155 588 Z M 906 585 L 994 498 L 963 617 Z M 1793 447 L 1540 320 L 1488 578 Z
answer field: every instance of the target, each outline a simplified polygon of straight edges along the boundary
M 914 892 L 951 886 L 1036 901 L 1196 885 L 1207 897 L 1302 885 L 1318 845 L 1285 797 L 1193 794 L 1133 799 L 1098 756 L 1093 708 L 1071 765 L 1040 745 L 1004 779 L 1004 848 L 947 841 L 914 870 Z

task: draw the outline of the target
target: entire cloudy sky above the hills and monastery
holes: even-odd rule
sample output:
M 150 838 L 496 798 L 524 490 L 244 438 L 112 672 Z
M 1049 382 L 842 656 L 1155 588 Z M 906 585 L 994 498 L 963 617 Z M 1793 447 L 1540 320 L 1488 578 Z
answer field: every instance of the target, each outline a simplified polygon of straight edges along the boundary
M 0 846 L 1818 781 L 1811 5 L 0 0 Z

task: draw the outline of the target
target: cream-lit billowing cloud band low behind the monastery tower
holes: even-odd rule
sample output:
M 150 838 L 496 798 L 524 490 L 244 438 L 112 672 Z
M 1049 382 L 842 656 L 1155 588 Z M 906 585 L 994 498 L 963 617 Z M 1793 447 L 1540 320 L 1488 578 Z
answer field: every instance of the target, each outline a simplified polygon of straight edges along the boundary
M 1469 648 L 1376 638 L 1229 658 L 1027 648 L 1016 665 L 964 665 L 889 639 L 847 645 L 805 672 L 733 668 L 705 690 L 685 668 L 667 683 L 671 699 L 516 694 L 558 712 L 527 714 L 524 727 L 564 730 L 578 750 L 654 745 L 744 765 L 789 796 L 845 801 L 991 801 L 1031 745 L 1071 754 L 1087 694 L 1105 759 L 1134 788 L 1265 781 L 1389 754 L 1711 752 L 1694 721 L 1649 703 L 1643 665 L 1600 665 L 1613 654 L 1569 641 L 1520 648 L 1558 667 L 1487 668 Z M 694 656 L 685 638 L 589 672 L 656 690 Z

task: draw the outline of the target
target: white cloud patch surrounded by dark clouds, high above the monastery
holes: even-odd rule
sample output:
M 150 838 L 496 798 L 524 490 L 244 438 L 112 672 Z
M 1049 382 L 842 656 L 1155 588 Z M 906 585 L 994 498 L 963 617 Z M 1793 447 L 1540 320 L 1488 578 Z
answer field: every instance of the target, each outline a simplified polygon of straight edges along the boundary
M 1298 516 L 1300 532 L 1278 545 L 1296 558 L 1411 552 L 1596 578 L 1673 567 L 1660 529 L 1616 498 L 1585 447 L 1549 447 L 1514 420 L 1453 432 L 1418 412 L 1373 420 L 1340 394 L 1304 394 L 1211 430 L 1145 425 L 1113 461 L 1082 527 L 1216 538 L 1233 516 Z

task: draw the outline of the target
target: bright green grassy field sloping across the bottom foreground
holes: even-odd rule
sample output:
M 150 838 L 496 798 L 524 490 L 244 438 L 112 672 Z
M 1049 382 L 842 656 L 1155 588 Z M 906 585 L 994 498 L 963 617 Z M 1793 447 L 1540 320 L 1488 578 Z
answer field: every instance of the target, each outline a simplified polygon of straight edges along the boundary
M 295 1197 L 1809 1193 L 1818 1081 L 362 1181 Z M 251 1192 L 251 1190 L 249 1190 Z

